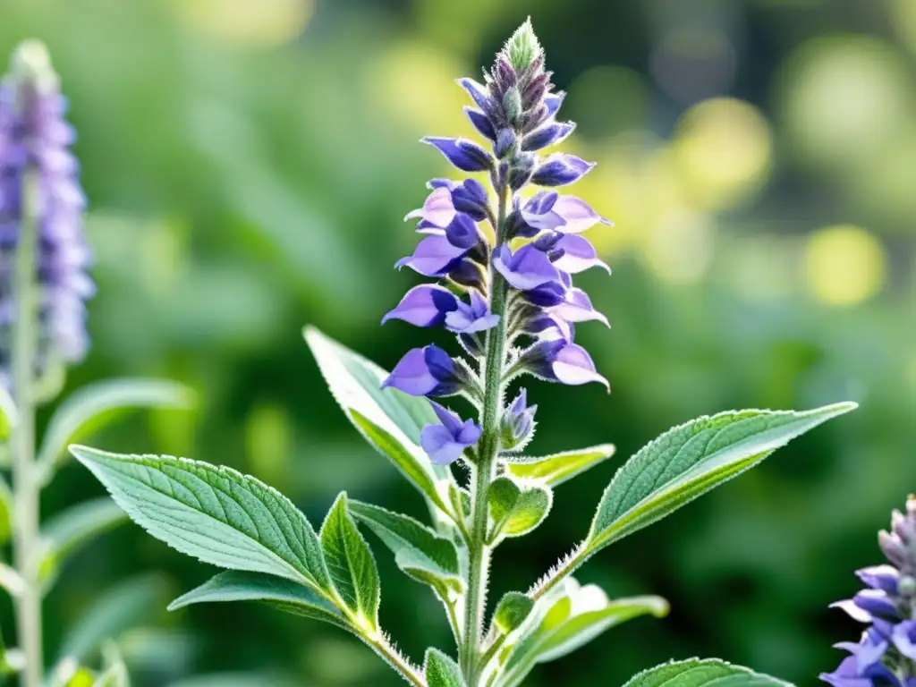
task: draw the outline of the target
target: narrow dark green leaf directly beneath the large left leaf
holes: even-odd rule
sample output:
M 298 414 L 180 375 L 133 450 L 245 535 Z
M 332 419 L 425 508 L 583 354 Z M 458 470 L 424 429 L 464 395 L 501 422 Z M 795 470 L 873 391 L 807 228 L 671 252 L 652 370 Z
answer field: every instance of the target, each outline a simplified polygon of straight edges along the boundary
M 291 613 L 353 631 L 340 609 L 303 584 L 265 573 L 227 571 L 214 575 L 169 604 L 169 611 L 193 604 L 257 601 Z

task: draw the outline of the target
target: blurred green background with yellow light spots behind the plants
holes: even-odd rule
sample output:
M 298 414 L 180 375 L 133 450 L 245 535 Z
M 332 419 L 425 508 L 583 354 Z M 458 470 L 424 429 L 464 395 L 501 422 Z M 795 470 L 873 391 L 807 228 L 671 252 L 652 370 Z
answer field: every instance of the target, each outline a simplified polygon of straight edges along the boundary
M 662 594 L 671 616 L 529 683 L 616 685 L 702 655 L 814 684 L 859 631 L 826 606 L 856 591 L 852 571 L 878 562 L 877 530 L 916 490 L 914 0 L 0 0 L 0 54 L 48 43 L 80 135 L 100 291 L 68 387 L 181 380 L 195 412 L 94 442 L 231 464 L 313 523 L 341 489 L 420 516 L 300 329 L 385 366 L 427 342 L 378 326 L 417 281 L 391 269 L 416 240 L 400 220 L 449 173 L 417 140 L 472 135 L 453 80 L 528 15 L 579 123 L 567 148 L 599 162 L 575 191 L 616 221 L 590 234 L 614 276 L 583 277 L 613 329 L 581 328 L 614 391 L 535 384 L 539 453 L 609 441 L 625 457 L 721 409 L 862 404 L 590 562 L 580 579 Z M 582 538 L 613 463 L 499 551 L 497 593 Z M 45 508 L 100 493 L 71 465 Z M 376 552 L 399 646 L 451 651 L 432 594 Z M 107 591 L 128 611 L 137 685 L 398 684 L 329 626 L 256 605 L 165 612 L 211 573 L 125 526 L 50 596 L 50 657 Z

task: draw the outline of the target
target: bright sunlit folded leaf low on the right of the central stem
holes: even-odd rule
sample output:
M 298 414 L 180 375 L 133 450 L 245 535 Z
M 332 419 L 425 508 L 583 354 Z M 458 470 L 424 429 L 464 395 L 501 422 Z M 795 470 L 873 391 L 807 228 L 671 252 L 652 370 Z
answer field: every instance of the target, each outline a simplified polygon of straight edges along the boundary
M 573 578 L 563 581 L 563 593 L 550 603 L 534 621 L 538 624 L 523 632 L 508 653 L 501 686 L 518 685 L 538 663 L 556 660 L 579 649 L 609 627 L 638 616 L 668 614 L 668 602 L 659 596 L 635 596 L 609 601 L 595 584 L 580 586 Z M 680 686 L 680 682 L 678 683 Z

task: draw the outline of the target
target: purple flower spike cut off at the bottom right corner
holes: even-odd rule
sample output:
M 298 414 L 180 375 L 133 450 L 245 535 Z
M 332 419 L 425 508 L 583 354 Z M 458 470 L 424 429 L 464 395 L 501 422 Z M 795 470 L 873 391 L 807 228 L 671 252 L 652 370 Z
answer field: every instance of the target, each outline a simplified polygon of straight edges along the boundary
M 916 496 L 906 511 L 895 510 L 891 531 L 878 535 L 889 564 L 858 571 L 867 588 L 834 604 L 869 624 L 858 643 L 836 645 L 849 656 L 821 675 L 834 687 L 916 687 Z

